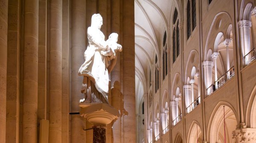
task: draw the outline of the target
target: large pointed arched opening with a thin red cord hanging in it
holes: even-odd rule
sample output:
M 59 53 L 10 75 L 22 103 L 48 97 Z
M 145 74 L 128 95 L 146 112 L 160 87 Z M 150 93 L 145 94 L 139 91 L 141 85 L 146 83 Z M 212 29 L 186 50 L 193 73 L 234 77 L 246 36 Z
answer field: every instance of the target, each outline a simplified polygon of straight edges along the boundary
M 237 120 L 233 109 L 228 105 L 221 104 L 215 108 L 210 120 L 209 128 L 210 143 L 235 143 L 232 132 L 236 129 Z

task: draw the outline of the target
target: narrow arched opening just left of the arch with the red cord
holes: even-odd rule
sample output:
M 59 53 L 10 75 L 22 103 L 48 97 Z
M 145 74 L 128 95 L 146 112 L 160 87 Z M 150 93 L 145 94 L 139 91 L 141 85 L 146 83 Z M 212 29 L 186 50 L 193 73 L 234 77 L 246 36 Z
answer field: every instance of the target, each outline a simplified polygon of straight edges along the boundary
M 189 130 L 188 143 L 202 143 L 202 131 L 198 123 L 192 123 Z

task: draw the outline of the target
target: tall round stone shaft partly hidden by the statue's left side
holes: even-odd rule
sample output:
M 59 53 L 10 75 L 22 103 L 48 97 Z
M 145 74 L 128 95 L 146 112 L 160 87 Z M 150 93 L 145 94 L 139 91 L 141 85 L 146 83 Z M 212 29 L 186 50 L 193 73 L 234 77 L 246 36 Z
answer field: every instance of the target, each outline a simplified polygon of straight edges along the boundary
M 79 100 L 84 95 L 80 92 L 83 77 L 77 73 L 84 62 L 86 50 L 86 1 L 72 0 L 71 6 L 71 112 L 79 112 Z M 85 122 L 80 115 L 71 115 L 71 143 L 84 143 L 86 132 L 83 129 Z

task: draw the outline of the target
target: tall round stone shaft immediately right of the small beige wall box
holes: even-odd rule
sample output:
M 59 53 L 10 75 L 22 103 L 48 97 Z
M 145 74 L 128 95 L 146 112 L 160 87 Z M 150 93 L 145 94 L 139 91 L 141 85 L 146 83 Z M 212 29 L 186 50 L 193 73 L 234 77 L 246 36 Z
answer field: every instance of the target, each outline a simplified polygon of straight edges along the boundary
M 62 0 L 50 1 L 49 143 L 61 143 Z

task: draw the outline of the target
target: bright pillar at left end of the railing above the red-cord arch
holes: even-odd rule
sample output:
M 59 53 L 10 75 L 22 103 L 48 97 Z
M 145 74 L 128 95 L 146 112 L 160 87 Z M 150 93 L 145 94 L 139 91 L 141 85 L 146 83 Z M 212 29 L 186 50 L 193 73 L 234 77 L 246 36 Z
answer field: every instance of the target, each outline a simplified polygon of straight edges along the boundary
M 204 68 L 204 84 L 206 86 L 206 89 L 209 88 L 209 86 L 212 84 L 212 67 L 213 62 L 212 61 L 204 61 L 203 62 L 203 68 Z M 207 95 L 212 93 L 212 88 L 210 87 L 207 90 Z

